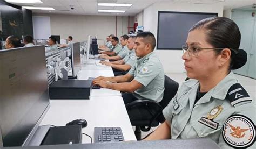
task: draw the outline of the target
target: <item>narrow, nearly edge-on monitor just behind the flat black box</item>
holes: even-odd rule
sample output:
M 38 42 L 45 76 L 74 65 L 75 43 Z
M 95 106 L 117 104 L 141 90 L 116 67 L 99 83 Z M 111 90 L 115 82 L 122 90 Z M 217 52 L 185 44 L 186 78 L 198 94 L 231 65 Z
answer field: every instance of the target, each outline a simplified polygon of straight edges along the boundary
M 72 74 L 73 78 L 75 78 L 81 69 L 80 42 L 73 43 L 71 46 L 71 62 Z

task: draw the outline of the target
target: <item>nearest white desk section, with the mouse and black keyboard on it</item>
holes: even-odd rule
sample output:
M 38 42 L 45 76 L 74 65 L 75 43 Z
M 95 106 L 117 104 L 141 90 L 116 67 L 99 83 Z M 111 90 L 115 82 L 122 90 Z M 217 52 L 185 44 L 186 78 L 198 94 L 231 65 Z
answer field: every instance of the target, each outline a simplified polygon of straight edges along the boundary
M 90 100 L 50 100 L 50 109 L 41 125 L 64 126 L 83 118 L 88 125 L 83 129 L 94 142 L 94 127 L 121 127 L 124 140 L 136 140 L 122 97 L 91 97 Z M 83 135 L 83 143 L 90 143 Z

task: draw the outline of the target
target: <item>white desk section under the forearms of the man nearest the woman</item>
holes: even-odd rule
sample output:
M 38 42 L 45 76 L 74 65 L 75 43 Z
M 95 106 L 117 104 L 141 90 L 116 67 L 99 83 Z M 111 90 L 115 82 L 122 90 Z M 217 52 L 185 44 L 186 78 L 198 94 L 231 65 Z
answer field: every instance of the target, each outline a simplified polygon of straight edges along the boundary
M 88 80 L 88 77 L 98 77 L 98 76 L 114 76 L 112 70 L 80 70 L 77 75 L 78 80 Z M 91 96 L 121 96 L 120 91 L 100 88 L 92 89 Z

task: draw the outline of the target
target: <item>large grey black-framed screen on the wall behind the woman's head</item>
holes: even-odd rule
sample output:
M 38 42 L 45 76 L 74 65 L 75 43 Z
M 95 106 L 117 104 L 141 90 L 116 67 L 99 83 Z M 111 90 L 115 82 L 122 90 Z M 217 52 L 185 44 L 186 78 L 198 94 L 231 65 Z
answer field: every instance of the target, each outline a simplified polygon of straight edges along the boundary
M 218 13 L 158 11 L 157 49 L 181 49 L 190 28 Z

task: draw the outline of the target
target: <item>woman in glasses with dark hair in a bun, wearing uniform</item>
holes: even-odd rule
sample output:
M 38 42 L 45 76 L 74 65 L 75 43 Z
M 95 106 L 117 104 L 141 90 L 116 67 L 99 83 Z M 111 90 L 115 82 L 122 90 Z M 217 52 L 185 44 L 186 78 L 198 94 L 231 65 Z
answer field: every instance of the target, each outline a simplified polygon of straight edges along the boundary
M 221 148 L 256 147 L 254 98 L 231 71 L 247 60 L 240 40 L 238 26 L 228 18 L 192 26 L 182 56 L 190 79 L 163 110 L 166 121 L 144 140 L 208 137 Z

